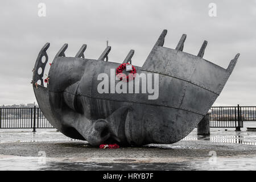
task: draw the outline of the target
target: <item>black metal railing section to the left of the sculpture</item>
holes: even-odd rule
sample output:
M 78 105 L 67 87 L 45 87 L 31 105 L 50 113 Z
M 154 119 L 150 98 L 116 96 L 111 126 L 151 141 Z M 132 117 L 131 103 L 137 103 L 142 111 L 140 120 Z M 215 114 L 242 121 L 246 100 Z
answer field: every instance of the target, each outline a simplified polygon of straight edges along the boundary
M 0 129 L 53 128 L 39 107 L 1 107 Z

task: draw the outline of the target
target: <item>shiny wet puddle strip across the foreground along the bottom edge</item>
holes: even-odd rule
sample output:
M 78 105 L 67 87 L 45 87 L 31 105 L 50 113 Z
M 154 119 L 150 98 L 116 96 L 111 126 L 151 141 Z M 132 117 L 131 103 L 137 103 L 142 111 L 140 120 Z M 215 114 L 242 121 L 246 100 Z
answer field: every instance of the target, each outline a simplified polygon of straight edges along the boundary
M 58 162 L 40 163 L 36 157 L 0 158 L 0 170 L 255 170 L 256 157 L 232 156 L 218 157 L 209 162 L 209 158 L 191 159 L 186 162 L 171 163 L 94 163 L 94 162 Z

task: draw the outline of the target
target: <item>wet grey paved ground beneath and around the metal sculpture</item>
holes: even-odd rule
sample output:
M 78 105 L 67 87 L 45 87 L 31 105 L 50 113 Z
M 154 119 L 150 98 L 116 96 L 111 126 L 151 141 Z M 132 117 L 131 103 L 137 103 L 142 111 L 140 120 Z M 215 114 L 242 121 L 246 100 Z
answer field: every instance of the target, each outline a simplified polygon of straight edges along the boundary
M 92 147 L 55 129 L 0 130 L 0 170 L 255 170 L 256 132 L 242 130 L 211 129 L 210 137 L 194 130 L 174 144 L 119 149 Z

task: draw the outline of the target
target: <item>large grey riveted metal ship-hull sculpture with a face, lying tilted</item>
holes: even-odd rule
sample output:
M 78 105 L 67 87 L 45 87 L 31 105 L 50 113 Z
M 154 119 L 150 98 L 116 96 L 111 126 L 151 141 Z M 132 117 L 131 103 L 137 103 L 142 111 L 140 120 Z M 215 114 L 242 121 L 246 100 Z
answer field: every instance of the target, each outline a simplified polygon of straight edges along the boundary
M 166 34 L 164 30 L 143 66 L 135 67 L 137 74 L 159 75 L 159 97 L 155 100 L 149 100 L 148 93 L 97 92 L 101 82 L 97 76 L 106 73 L 110 77 L 110 69 L 119 66 L 108 61 L 109 46 L 98 60 L 93 60 L 84 58 L 85 44 L 75 57 L 65 57 L 68 45 L 64 44 L 51 64 L 44 87 L 47 43 L 39 52 L 32 78 L 44 116 L 64 135 L 94 146 L 113 142 L 131 146 L 175 143 L 187 136 L 221 93 L 239 53 L 224 69 L 203 59 L 206 41 L 194 56 L 183 52 L 185 34 L 176 49 L 163 47 Z M 131 63 L 133 53 L 131 50 L 123 63 Z

